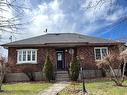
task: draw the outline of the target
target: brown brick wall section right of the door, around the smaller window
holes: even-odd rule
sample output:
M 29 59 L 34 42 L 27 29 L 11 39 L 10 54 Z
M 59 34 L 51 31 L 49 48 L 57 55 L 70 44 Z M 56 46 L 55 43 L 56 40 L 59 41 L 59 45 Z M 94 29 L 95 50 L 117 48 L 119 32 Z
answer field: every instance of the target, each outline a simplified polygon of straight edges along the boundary
M 98 69 L 98 67 L 96 66 L 97 62 L 95 61 L 94 47 L 87 46 L 77 48 L 77 56 L 82 59 L 84 69 Z M 119 48 L 117 46 L 108 47 L 108 51 L 109 53 L 119 54 Z

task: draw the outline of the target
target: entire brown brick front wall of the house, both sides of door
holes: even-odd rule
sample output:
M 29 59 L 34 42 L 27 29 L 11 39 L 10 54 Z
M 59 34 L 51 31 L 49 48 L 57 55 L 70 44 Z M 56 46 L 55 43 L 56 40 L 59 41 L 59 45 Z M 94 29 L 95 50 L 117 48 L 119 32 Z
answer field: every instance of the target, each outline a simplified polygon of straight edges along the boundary
M 29 47 L 28 47 L 29 48 Z M 56 66 L 56 50 L 55 48 L 38 47 L 37 51 L 37 64 L 16 64 L 17 62 L 17 51 L 19 48 L 9 48 L 8 52 L 8 65 L 11 72 L 20 73 L 24 70 L 41 71 L 45 62 L 46 51 L 49 50 L 49 57 L 51 62 Z M 25 48 L 26 49 L 26 48 Z M 66 48 L 65 48 L 66 49 Z M 118 47 L 109 47 L 109 52 L 119 53 Z M 80 58 L 83 58 L 83 65 L 85 69 L 97 69 L 95 58 L 94 58 L 94 47 L 84 46 L 77 47 L 75 53 Z M 71 61 L 71 55 L 65 52 L 65 67 L 67 67 Z

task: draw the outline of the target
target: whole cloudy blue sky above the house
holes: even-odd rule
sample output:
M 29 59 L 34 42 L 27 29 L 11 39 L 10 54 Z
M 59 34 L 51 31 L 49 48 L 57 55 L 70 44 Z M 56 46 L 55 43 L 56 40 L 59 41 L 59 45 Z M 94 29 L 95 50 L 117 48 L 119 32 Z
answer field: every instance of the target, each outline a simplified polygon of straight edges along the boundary
M 100 38 L 118 40 L 127 37 L 127 0 L 17 0 L 16 5 L 23 4 L 24 19 L 30 21 L 25 29 L 17 34 L 2 33 L 1 43 L 43 35 L 48 33 L 80 33 Z M 116 2 L 117 1 L 117 2 Z M 92 6 L 90 8 L 89 6 Z M 12 17 L 17 13 L 5 13 Z

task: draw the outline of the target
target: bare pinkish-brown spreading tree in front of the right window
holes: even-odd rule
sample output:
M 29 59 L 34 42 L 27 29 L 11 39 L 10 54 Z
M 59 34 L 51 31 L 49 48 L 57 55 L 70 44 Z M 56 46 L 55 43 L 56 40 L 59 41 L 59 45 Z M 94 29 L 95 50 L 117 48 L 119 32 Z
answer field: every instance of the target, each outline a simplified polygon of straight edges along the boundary
M 108 54 L 101 61 L 99 61 L 97 65 L 110 74 L 111 79 L 117 86 L 122 86 L 125 77 L 124 72 L 126 63 L 127 50 L 121 52 L 120 54 Z M 123 65 L 122 70 L 121 65 Z M 115 69 L 117 69 L 117 71 L 115 71 Z

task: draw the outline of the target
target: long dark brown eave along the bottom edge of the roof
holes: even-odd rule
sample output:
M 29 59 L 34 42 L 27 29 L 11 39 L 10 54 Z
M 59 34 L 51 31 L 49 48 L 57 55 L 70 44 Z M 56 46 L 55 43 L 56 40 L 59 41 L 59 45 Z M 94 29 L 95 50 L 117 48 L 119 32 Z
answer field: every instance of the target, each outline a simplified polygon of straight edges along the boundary
M 90 46 L 110 46 L 110 45 L 120 45 L 120 44 L 125 44 L 123 42 L 112 42 L 112 43 L 88 43 L 88 42 L 76 42 L 76 43 L 45 43 L 45 44 L 13 44 L 13 45 L 8 45 L 8 44 L 3 44 L 1 46 L 3 46 L 4 48 L 9 48 L 9 47 L 47 47 L 47 46 L 86 46 L 86 45 L 90 45 Z

